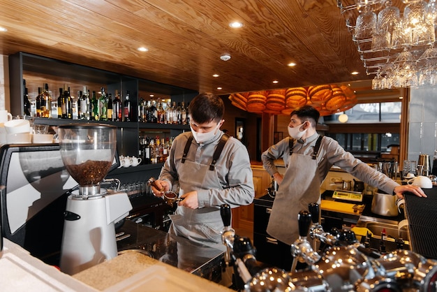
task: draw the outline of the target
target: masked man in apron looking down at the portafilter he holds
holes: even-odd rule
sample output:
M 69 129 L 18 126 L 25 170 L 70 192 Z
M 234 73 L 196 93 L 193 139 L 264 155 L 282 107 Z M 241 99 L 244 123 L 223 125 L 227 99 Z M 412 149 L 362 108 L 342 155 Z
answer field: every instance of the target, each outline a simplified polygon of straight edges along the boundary
M 175 138 L 155 182 L 162 191 L 179 182 L 179 197 L 184 198 L 171 216 L 169 232 L 221 250 L 225 245 L 220 206 L 249 205 L 255 196 L 246 147 L 220 130 L 224 110 L 223 101 L 214 94 L 193 98 L 188 105 L 191 132 Z M 219 154 L 216 161 L 214 153 Z M 162 196 L 158 189 L 152 187 L 155 196 Z

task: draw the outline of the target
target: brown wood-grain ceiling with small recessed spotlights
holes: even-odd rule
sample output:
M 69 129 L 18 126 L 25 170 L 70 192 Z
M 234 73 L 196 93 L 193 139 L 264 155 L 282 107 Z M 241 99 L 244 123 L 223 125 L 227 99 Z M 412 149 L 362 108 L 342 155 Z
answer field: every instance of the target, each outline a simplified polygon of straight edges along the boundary
M 0 54 L 29 52 L 199 92 L 373 78 L 336 0 L 0 0 L 0 7 L 8 29 Z M 233 21 L 244 27 L 232 29 Z

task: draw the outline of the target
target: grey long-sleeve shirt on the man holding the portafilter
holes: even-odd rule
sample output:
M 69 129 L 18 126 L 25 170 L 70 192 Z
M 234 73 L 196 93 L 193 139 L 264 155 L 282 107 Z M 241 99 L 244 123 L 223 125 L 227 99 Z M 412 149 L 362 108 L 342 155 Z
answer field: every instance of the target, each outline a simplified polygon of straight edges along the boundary
M 170 182 L 170 186 L 179 180 L 178 169 L 182 163 L 182 155 L 190 135 L 191 132 L 182 133 L 173 140 L 168 159 L 161 169 L 159 179 Z M 220 135 L 217 135 L 212 141 L 201 144 L 196 143 L 193 139 L 186 160 L 209 165 L 222 135 L 223 132 L 220 132 Z M 203 186 L 204 189 L 197 190 L 199 208 L 220 206 L 224 203 L 230 207 L 237 207 L 253 202 L 255 189 L 251 161 L 246 147 L 239 140 L 232 137 L 228 139 L 216 162 L 216 173 L 223 189 Z M 196 177 L 197 174 L 193 171 L 192 175 Z M 185 192 L 187 191 L 190 190 L 185 190 Z

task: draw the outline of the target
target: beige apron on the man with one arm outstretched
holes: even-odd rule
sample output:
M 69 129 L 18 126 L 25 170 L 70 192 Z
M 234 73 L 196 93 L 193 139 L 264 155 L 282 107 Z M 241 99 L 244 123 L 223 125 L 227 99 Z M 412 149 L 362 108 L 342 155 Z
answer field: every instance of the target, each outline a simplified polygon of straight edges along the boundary
M 309 203 L 320 203 L 320 184 L 317 159 L 292 153 L 273 202 L 267 233 L 289 245 L 295 242 L 299 238 L 297 214 L 308 211 Z

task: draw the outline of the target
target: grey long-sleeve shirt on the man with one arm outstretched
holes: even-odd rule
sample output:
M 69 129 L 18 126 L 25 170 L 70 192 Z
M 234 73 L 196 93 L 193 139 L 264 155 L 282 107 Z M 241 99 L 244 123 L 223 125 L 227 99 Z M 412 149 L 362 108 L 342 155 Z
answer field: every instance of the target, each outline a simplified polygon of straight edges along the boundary
M 313 154 L 317 138 L 318 133 L 315 133 L 313 136 L 306 138 L 304 144 L 298 143 L 297 140 L 295 140 L 292 152 L 305 155 Z M 278 172 L 274 165 L 276 159 L 283 159 L 286 167 L 288 167 L 290 158 L 289 139 L 291 138 L 287 137 L 279 141 L 279 143 L 272 145 L 272 147 L 269 147 L 269 149 L 262 153 L 262 164 L 269 175 Z M 325 180 L 332 166 L 338 166 L 354 177 L 357 177 L 357 179 L 373 187 L 378 187 L 378 189 L 385 191 L 387 194 L 393 194 L 394 188 L 399 186 L 397 182 L 394 182 L 394 180 L 387 177 L 387 175 L 371 168 L 366 163 L 360 161 L 360 159 L 356 159 L 350 152 L 346 152 L 336 140 L 329 137 L 324 137 L 322 140 L 317 162 L 321 180 Z M 302 168 L 304 167 L 305 166 L 302 166 Z

